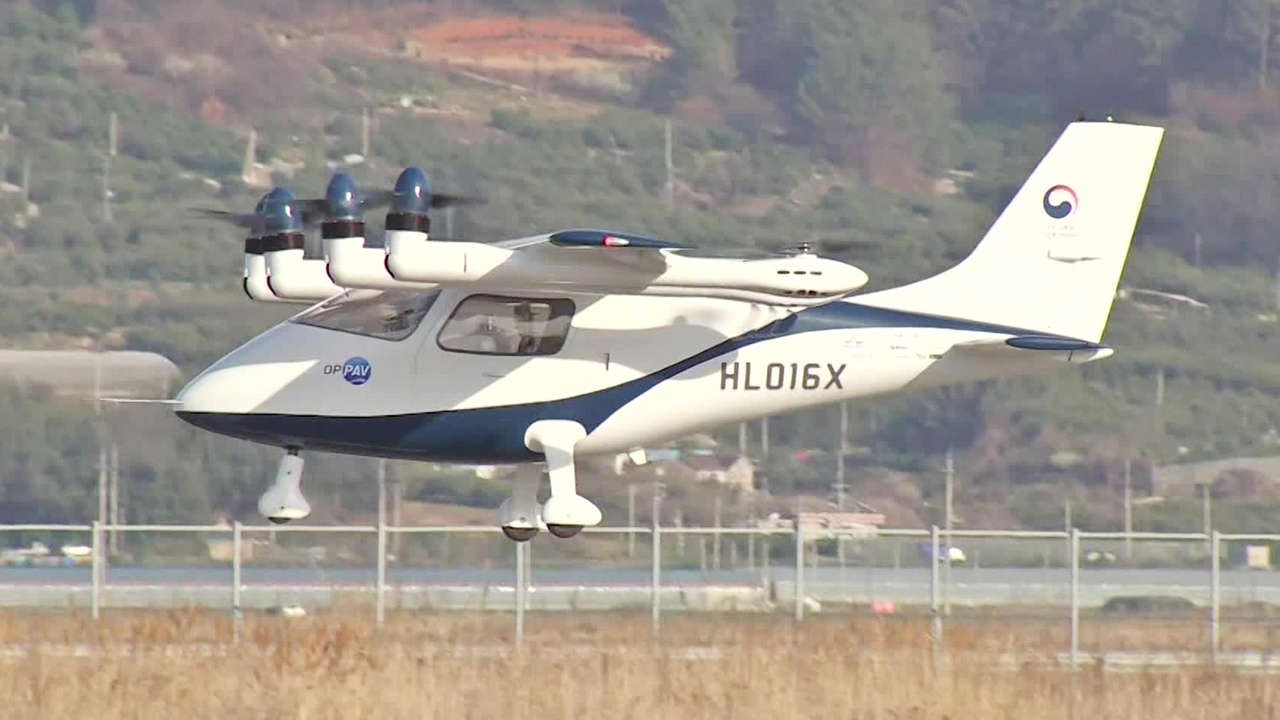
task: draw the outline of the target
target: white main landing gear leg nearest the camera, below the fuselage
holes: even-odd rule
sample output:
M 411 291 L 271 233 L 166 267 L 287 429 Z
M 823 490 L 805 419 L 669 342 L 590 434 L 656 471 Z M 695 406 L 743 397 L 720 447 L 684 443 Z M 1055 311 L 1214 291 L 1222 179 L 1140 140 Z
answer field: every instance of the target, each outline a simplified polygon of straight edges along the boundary
M 572 420 L 539 420 L 525 433 L 525 445 L 547 456 L 552 496 L 543 503 L 543 520 L 558 538 L 571 538 L 602 520 L 600 509 L 577 495 L 573 446 L 584 437 L 586 430 Z

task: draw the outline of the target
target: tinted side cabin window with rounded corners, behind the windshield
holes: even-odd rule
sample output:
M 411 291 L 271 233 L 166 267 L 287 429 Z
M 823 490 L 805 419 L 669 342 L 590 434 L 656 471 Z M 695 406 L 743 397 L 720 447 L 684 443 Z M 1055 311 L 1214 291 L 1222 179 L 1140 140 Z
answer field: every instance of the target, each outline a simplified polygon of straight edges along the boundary
M 449 315 L 438 342 L 456 352 L 554 355 L 572 319 L 572 300 L 472 295 Z

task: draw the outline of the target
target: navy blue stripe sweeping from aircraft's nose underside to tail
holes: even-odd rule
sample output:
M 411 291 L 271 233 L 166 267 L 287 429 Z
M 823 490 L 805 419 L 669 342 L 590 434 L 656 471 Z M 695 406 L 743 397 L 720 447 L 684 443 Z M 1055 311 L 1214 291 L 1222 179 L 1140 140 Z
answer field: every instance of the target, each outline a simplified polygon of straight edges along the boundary
M 520 462 L 541 457 L 525 447 L 525 430 L 536 420 L 576 420 L 588 432 L 627 402 L 709 360 L 742 347 L 786 336 L 829 329 L 934 328 L 1034 336 L 1042 342 L 1084 341 L 1050 333 L 941 318 L 854 302 L 831 302 L 774 320 L 728 338 L 662 370 L 614 387 L 550 402 L 476 407 L 387 416 L 314 416 L 280 414 L 214 414 L 178 411 L 200 428 L 268 445 L 300 445 L 312 450 L 451 462 Z

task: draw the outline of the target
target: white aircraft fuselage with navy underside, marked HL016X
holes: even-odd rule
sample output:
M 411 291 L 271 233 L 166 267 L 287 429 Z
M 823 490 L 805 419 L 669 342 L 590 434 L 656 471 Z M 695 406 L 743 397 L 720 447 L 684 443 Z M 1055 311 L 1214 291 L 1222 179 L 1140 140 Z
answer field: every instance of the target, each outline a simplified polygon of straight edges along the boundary
M 358 292 L 378 299 L 376 291 Z M 852 301 L 792 311 L 724 299 L 547 292 L 503 297 L 572 302 L 554 352 L 460 351 L 447 340 L 461 332 L 451 316 L 483 291 L 430 292 L 436 297 L 416 328 L 389 325 L 399 328 L 394 340 L 306 324 L 333 301 L 270 328 L 192 380 L 179 414 L 214 432 L 285 447 L 525 461 L 539 457 L 524 438 L 541 419 L 581 423 L 588 434 L 579 454 L 617 452 L 855 397 L 1047 369 L 1062 359 L 948 354 L 959 342 L 1023 331 Z M 355 323 L 338 313 L 328 325 L 381 327 L 360 313 L 351 313 Z

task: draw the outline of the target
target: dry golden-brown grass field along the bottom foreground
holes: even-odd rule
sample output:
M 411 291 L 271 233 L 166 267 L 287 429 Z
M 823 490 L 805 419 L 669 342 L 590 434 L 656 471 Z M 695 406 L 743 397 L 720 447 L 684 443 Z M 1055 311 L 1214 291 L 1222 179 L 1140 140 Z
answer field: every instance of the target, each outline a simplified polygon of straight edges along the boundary
M 1112 628 L 1133 647 L 1198 638 Z M 1071 674 L 997 652 L 1056 652 L 1061 628 L 966 623 L 934 666 L 928 621 L 362 612 L 250 616 L 232 644 L 224 614 L 0 614 L 0 717 L 271 719 L 1213 719 L 1280 717 L 1280 679 L 1233 670 Z M 79 656 L 40 647 L 93 648 Z M 690 646 L 718 652 L 678 652 Z M 1202 646 L 1185 650 L 1202 650 Z M 26 655 L 23 653 L 26 651 Z

